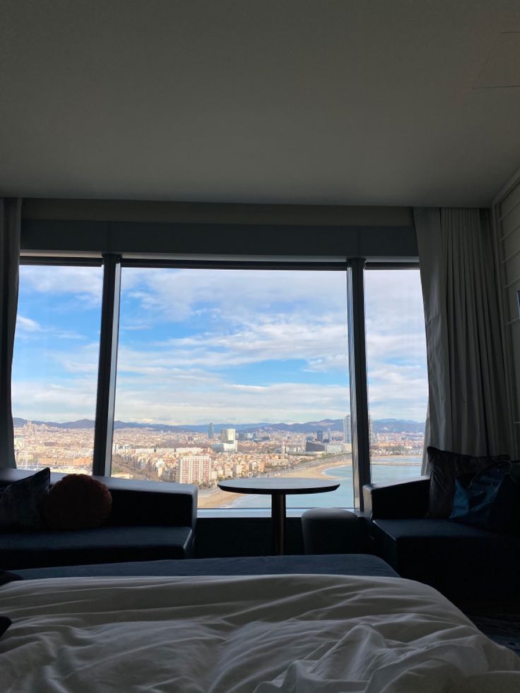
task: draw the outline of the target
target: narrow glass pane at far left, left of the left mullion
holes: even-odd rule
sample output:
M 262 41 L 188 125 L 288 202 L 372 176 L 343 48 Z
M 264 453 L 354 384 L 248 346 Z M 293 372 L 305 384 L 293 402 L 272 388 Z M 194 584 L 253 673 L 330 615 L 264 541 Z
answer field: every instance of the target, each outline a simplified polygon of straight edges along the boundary
M 13 356 L 16 464 L 92 473 L 102 268 L 20 266 Z

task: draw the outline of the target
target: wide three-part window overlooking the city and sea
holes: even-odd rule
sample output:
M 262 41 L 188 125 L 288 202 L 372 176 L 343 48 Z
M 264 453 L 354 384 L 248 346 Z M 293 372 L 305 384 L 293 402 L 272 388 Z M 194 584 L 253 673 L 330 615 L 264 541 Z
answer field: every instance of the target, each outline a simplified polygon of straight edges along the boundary
M 418 268 L 104 257 L 20 267 L 18 467 L 191 482 L 201 509 L 270 504 L 227 478 L 334 478 L 288 507 L 353 507 L 367 480 L 420 474 Z

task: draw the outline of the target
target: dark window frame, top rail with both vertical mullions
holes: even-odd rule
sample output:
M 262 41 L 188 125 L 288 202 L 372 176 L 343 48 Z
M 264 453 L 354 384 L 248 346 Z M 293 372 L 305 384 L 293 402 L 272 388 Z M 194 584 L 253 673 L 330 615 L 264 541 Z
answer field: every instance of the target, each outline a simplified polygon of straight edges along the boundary
M 356 509 L 363 510 L 361 489 L 371 480 L 369 408 L 365 333 L 365 271 L 418 269 L 417 258 L 389 256 L 365 259 L 353 255 L 305 256 L 203 256 L 105 252 L 36 251 L 20 254 L 20 265 L 102 266 L 103 292 L 100 356 L 95 414 L 93 474 L 110 476 L 114 432 L 114 404 L 119 343 L 121 273 L 124 267 L 211 268 L 259 270 L 343 271 L 347 278 L 350 415 L 352 426 L 353 486 Z M 226 511 L 229 512 L 229 511 Z

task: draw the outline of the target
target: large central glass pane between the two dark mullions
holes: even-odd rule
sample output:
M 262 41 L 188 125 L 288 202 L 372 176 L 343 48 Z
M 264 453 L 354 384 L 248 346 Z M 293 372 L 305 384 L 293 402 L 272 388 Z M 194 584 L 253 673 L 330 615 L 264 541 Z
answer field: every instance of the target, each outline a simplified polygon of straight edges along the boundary
M 347 353 L 344 272 L 123 268 L 112 474 L 201 508 L 269 507 L 222 479 L 333 477 L 288 507 L 351 507 Z

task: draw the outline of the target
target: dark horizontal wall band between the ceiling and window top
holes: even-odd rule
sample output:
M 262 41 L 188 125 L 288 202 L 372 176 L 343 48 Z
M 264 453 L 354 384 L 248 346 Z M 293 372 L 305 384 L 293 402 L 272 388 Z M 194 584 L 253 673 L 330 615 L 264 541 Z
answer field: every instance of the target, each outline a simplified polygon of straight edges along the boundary
M 25 199 L 22 251 L 415 259 L 408 207 Z

